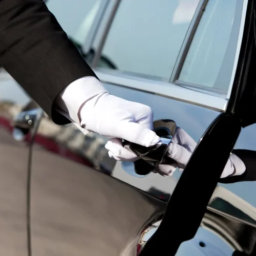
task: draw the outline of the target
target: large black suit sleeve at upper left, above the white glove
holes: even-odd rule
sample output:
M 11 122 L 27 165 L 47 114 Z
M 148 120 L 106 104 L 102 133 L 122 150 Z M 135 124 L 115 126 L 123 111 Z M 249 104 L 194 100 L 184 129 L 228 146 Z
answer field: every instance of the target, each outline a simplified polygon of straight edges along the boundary
M 58 93 L 82 76 L 95 76 L 42 0 L 0 0 L 0 65 L 57 124 Z

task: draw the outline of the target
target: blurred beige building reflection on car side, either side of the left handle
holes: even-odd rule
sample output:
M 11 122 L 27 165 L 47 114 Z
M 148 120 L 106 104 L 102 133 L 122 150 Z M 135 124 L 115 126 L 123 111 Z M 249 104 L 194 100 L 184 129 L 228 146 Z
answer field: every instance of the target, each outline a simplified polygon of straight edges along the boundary
M 9 123 L 8 127 L 13 125 L 13 120 L 19 113 L 35 108 L 39 106 L 33 101 L 26 105 L 18 105 L 9 101 L 0 102 L 1 118 Z M 49 144 L 49 140 L 55 143 L 58 152 L 61 151 L 60 147 L 66 148 L 74 155 L 93 163 L 95 168 L 102 168 L 109 174 L 115 166 L 116 160 L 109 158 L 105 150 L 106 138 L 94 133 L 85 136 L 73 124 L 57 125 L 44 113 L 38 126 L 35 143 L 44 147 Z

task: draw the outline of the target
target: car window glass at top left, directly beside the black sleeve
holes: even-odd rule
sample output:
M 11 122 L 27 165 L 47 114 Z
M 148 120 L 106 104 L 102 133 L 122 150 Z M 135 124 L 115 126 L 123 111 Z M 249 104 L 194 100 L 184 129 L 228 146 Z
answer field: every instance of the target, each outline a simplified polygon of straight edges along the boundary
M 54 14 L 62 29 L 74 42 L 80 53 L 83 45 L 94 32 L 95 20 L 102 11 L 106 0 L 62 0 L 45 1 L 48 9 Z

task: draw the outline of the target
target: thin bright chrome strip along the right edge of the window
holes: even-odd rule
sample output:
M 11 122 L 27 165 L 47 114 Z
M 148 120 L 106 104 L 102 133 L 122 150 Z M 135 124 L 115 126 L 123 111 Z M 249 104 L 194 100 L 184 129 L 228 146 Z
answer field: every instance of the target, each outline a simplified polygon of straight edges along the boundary
M 236 55 L 234 57 L 234 66 L 233 66 L 233 71 L 229 83 L 229 88 L 227 92 L 227 99 L 230 98 L 232 87 L 233 87 L 233 82 L 234 82 L 234 76 L 236 75 L 237 72 L 237 66 L 238 66 L 238 59 L 240 55 L 240 50 L 241 50 L 241 45 L 242 45 L 242 39 L 244 35 L 244 25 L 245 25 L 245 18 L 246 18 L 246 12 L 247 12 L 247 6 L 248 6 L 248 0 L 243 0 L 243 10 L 242 10 L 242 16 L 241 16 L 241 23 L 240 23 L 240 31 L 239 31 L 239 36 L 238 36 L 238 44 L 237 44 L 237 51 Z

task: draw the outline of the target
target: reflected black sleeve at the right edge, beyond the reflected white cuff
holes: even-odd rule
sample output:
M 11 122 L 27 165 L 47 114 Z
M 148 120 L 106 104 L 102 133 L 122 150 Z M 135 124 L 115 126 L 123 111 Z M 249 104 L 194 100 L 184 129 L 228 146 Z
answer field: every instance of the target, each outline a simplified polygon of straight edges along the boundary
M 232 176 L 220 179 L 220 183 L 256 181 L 256 151 L 233 150 L 233 153 L 244 162 L 246 170 L 240 176 Z

